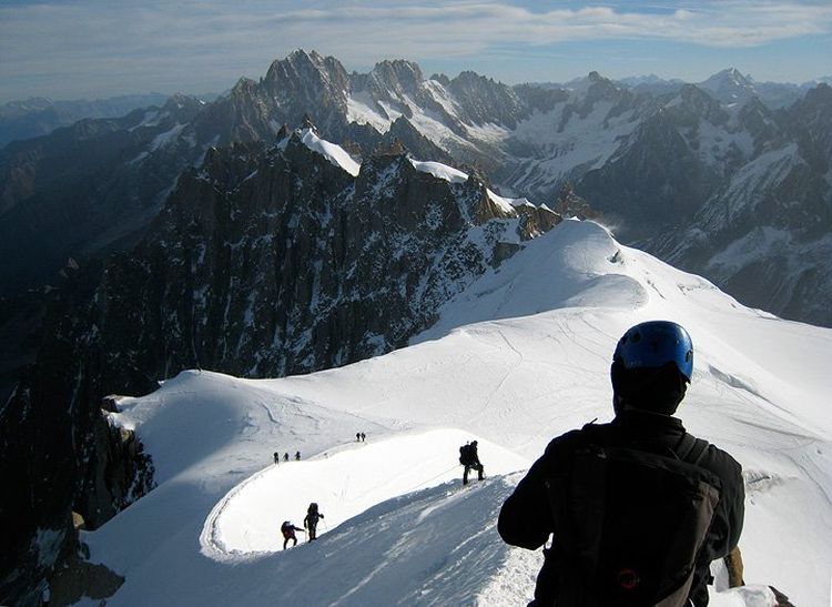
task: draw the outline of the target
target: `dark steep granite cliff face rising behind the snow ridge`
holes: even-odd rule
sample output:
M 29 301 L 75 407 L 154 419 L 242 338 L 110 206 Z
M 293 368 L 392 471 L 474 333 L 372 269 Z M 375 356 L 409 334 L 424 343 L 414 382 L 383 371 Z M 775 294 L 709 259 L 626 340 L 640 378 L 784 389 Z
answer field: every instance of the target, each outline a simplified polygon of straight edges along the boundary
M 149 235 L 105 269 L 108 352 L 162 376 L 354 362 L 404 345 L 498 242 L 519 242 L 519 214 L 489 204 L 475 178 L 448 182 L 405 154 L 372 156 L 354 176 L 310 138 L 212 150 L 182 175 Z

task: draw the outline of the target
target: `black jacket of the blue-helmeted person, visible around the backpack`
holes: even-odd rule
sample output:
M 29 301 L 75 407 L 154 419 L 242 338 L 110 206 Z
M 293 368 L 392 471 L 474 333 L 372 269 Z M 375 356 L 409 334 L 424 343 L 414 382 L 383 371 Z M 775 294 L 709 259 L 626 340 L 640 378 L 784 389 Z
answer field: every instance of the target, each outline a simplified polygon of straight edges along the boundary
M 681 421 L 676 417 L 627 411 L 610 424 L 587 426 L 555 438 L 503 505 L 497 524 L 500 536 L 508 544 L 528 549 L 537 549 L 547 542 L 554 530 L 554 522 L 545 482 L 556 471 L 564 469 L 576 449 L 592 443 L 601 447 L 619 446 L 668 453 L 667 449 L 679 445 L 684 434 Z M 722 482 L 720 499 L 697 559 L 690 591 L 696 607 L 703 607 L 708 605 L 707 584 L 710 579 L 711 560 L 724 557 L 740 539 L 744 488 L 742 467 L 722 449 L 709 445 L 698 465 L 716 474 Z M 557 540 L 557 537 L 552 538 L 552 542 Z M 548 558 L 546 560 L 535 589 L 535 604 L 539 606 L 551 605 L 555 596 L 556 581 L 551 575 L 551 563 Z

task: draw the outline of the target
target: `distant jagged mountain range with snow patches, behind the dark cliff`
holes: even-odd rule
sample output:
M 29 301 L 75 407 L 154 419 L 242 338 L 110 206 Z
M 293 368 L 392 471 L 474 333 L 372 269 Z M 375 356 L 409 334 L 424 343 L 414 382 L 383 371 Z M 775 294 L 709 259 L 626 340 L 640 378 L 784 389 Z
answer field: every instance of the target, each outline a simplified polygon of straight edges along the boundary
M 332 57 L 295 51 L 212 103 L 179 97 L 2 150 L 2 294 L 52 281 L 70 256 L 129 249 L 179 174 L 212 145 L 268 143 L 283 124 L 312 118 L 322 136 L 357 158 L 398 139 L 415 158 L 479 166 L 495 191 L 537 204 L 552 205 L 571 184 L 622 241 L 749 305 L 832 324 L 822 303 L 832 290 L 822 262 L 832 206 L 830 88 L 793 87 L 798 101 L 772 109 L 754 97 L 762 85 L 737 70 L 663 84 L 653 93 L 592 72 L 568 87 L 508 87 L 474 72 L 426 79 L 404 60 L 348 73 Z M 769 173 L 763 166 L 774 156 L 782 170 Z M 748 199 L 735 206 L 749 212 L 726 213 L 719 225 L 702 221 L 727 199 Z M 762 201 L 764 211 L 752 212 Z M 801 253 L 754 249 L 771 230 Z M 759 287 L 771 283 L 777 289 Z

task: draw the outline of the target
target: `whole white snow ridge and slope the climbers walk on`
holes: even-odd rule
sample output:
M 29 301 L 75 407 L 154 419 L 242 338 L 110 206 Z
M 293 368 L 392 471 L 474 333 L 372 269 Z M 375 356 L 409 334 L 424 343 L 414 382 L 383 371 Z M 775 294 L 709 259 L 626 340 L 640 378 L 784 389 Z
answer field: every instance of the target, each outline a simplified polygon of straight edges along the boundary
M 767 605 L 761 584 L 829 605 L 832 331 L 745 308 L 578 221 L 487 273 L 409 347 L 283 380 L 185 372 L 122 398 L 113 417 L 136 428 L 159 487 L 83 536 L 126 578 L 108 604 L 525 605 L 541 555 L 495 528 L 513 471 L 611 418 L 612 348 L 647 318 L 690 331 L 680 416 L 745 469 L 741 548 L 758 586 L 711 605 Z M 463 489 L 457 447 L 475 437 L 488 477 Z M 319 540 L 283 552 L 280 523 L 301 526 L 312 500 Z

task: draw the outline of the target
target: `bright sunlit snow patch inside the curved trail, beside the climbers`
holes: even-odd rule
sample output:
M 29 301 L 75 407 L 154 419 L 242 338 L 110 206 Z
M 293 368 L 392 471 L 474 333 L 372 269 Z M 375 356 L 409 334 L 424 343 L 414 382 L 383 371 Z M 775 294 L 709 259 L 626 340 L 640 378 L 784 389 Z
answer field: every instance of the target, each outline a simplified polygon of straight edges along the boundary
M 369 444 L 338 445 L 306 462 L 284 463 L 255 474 L 234 487 L 214 508 L 202 536 L 206 554 L 226 555 L 280 549 L 275 509 L 305 513 L 312 502 L 328 504 L 323 528 L 336 527 L 372 506 L 459 476 L 448 454 L 469 441 L 461 431 L 405 434 Z M 430 445 L 426 449 L 425 445 Z M 480 441 L 490 474 L 522 469 L 528 462 L 493 443 Z M 373 474 L 365 474 L 371 469 Z M 294 487 L 291 493 L 286 487 Z M 293 523 L 301 525 L 298 517 Z

